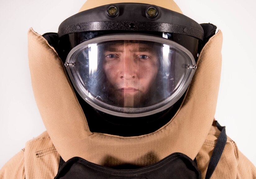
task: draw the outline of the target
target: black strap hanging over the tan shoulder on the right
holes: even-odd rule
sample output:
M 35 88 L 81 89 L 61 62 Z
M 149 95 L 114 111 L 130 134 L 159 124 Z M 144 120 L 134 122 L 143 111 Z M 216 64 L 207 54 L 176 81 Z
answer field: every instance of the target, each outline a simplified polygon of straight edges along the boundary
M 217 140 L 216 146 L 213 149 L 213 154 L 212 154 L 212 157 L 210 159 L 210 162 L 209 162 L 209 165 L 208 165 L 208 168 L 207 168 L 205 179 L 209 179 L 212 176 L 213 171 L 215 170 L 215 168 L 216 168 L 216 166 L 217 166 L 217 164 L 220 160 L 220 157 L 222 155 L 222 152 L 223 152 L 224 147 L 225 147 L 226 142 L 227 142 L 227 135 L 226 135 L 225 126 L 223 126 L 223 127 L 220 126 L 217 121 L 216 121 L 216 126 L 217 126 L 218 130 L 221 131 L 221 133 L 220 133 L 220 136 Z

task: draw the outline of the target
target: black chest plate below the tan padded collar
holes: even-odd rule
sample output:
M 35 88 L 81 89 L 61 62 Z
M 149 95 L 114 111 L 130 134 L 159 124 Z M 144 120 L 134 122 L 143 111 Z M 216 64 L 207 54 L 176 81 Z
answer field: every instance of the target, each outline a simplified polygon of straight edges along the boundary
M 182 153 L 173 153 L 155 164 L 138 169 L 117 170 L 93 164 L 80 157 L 74 157 L 60 168 L 55 179 L 169 179 L 201 178 L 195 162 Z

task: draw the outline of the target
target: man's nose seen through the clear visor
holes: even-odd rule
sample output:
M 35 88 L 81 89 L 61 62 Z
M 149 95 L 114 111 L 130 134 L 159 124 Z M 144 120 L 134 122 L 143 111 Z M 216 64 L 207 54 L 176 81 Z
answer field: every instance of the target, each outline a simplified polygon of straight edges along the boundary
M 135 79 L 137 77 L 138 64 L 134 61 L 132 55 L 125 55 L 121 61 L 120 78 L 126 80 Z

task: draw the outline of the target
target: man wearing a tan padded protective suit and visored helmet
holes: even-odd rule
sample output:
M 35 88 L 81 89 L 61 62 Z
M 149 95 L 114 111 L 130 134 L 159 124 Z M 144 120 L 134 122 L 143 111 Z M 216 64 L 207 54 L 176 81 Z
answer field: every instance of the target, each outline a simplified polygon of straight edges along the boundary
M 185 164 L 194 166 L 196 176 L 200 170 L 206 178 L 255 177 L 255 168 L 225 138 L 225 130 L 217 124 L 220 132 L 215 122 L 212 125 L 221 32 L 214 35 L 216 28 L 204 24 L 202 33 L 193 20 L 150 4 L 109 3 L 83 11 L 61 24 L 58 45 L 51 40 L 54 34 L 44 35 L 65 62 L 75 91 L 56 51 L 42 36 L 29 31 L 30 47 L 34 47 L 29 51 L 33 88 L 48 134 L 27 143 L 25 151 L 3 168 L 3 175 L 22 158 L 24 167 L 13 172 L 15 176 L 25 171 L 26 178 L 52 178 L 57 172 L 61 177 L 72 171 L 68 164 L 77 164 L 69 160 L 74 156 L 110 168 L 152 164 L 156 169 L 156 162 L 163 163 L 165 157 L 179 152 L 179 157 L 188 156 Z M 90 7 L 88 2 L 86 6 Z M 144 19 L 131 21 L 129 14 L 132 19 Z M 167 14 L 175 18 L 161 21 Z M 88 16 L 105 21 L 91 21 Z M 212 61 L 215 68 L 209 72 Z M 69 162 L 63 165 L 61 158 Z M 129 177 L 143 177 L 138 170 L 133 172 Z

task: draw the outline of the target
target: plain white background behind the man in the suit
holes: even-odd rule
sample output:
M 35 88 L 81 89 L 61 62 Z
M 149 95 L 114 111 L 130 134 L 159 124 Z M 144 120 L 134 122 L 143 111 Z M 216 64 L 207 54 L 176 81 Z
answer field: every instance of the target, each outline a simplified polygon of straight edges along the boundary
M 0 2 L 0 168 L 45 127 L 30 82 L 27 31 L 57 32 L 85 0 Z M 223 32 L 222 76 L 216 119 L 256 165 L 256 3 L 254 0 L 177 0 L 198 23 Z M 209 66 L 214 68 L 214 66 Z M 205 89 L 207 90 L 207 89 Z

